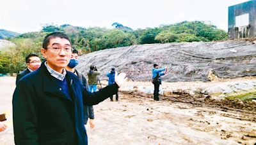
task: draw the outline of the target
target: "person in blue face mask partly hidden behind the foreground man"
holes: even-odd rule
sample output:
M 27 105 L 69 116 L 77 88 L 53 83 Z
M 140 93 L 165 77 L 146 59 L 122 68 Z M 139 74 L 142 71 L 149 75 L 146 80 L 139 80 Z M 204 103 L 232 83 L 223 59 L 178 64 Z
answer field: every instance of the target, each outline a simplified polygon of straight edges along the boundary
M 79 78 L 81 83 L 88 90 L 88 83 L 87 83 L 85 76 L 83 74 L 81 74 L 81 72 L 79 72 L 75 69 L 77 64 L 79 64 L 78 52 L 77 52 L 77 50 L 73 50 L 73 52 L 71 54 L 70 62 L 68 63 L 68 66 L 66 67 L 66 69 L 67 69 L 67 71 L 70 71 L 70 72 L 73 72 L 74 74 L 76 74 L 76 76 Z M 90 120 L 89 120 L 90 127 L 94 128 L 95 123 L 93 121 L 94 120 L 93 106 L 84 106 L 84 124 L 85 125 L 87 124 L 88 118 L 90 118 Z

